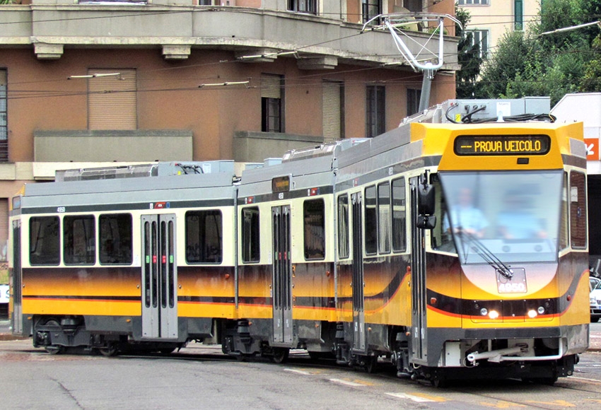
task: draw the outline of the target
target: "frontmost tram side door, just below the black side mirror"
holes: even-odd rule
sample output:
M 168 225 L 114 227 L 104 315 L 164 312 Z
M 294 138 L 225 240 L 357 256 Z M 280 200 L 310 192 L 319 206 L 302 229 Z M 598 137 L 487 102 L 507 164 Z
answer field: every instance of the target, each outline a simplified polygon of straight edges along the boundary
M 411 189 L 411 283 L 412 283 L 412 358 L 424 359 L 426 344 L 426 251 L 424 230 L 416 228 L 419 177 L 409 180 Z

